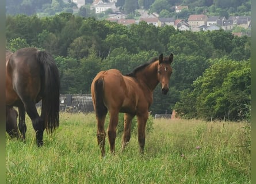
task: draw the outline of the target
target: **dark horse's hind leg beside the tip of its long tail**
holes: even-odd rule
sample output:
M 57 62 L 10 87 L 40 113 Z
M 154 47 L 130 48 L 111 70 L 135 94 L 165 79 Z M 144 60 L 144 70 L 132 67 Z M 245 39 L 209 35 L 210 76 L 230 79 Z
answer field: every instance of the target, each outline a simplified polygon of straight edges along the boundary
M 36 104 L 32 101 L 25 103 L 25 109 L 26 113 L 28 113 L 28 116 L 32 120 L 33 128 L 36 131 L 36 143 L 37 146 L 40 147 L 43 145 L 43 133 L 44 133 L 44 121 L 39 116 L 36 110 Z

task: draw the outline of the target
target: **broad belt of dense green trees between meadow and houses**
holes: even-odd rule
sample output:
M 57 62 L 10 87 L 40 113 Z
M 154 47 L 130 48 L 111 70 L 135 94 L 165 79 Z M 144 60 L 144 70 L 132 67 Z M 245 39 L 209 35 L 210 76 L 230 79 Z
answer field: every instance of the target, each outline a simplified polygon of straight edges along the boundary
M 90 93 L 99 71 L 117 68 L 127 74 L 160 53 L 172 52 L 170 91 L 162 95 L 160 86 L 156 87 L 152 113 L 175 109 L 181 116 L 208 120 L 240 120 L 250 115 L 247 36 L 224 30 L 184 32 L 146 22 L 124 26 L 70 13 L 6 16 L 6 48 L 23 47 L 43 49 L 55 57 L 62 94 Z

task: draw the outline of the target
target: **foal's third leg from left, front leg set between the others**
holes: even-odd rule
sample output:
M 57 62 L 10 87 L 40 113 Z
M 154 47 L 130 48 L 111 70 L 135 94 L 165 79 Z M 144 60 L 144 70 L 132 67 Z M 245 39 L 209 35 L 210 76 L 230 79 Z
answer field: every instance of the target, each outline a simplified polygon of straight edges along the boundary
M 123 134 L 123 140 L 122 140 L 122 151 L 124 151 L 125 146 L 128 144 L 130 138 L 131 138 L 131 124 L 132 124 L 132 118 L 134 115 L 125 113 L 124 114 L 124 134 Z

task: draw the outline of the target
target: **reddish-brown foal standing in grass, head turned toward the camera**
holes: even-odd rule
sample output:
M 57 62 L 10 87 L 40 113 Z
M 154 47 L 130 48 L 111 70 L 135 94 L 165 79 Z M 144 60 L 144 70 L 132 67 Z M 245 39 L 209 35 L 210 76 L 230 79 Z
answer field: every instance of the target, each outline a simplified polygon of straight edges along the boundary
M 137 116 L 138 141 L 140 152 L 145 145 L 145 127 L 148 119 L 148 109 L 152 104 L 153 90 L 161 83 L 162 93 L 169 90 L 169 80 L 172 73 L 170 66 L 173 54 L 169 57 L 155 57 L 150 63 L 136 68 L 131 74 L 122 75 L 119 70 L 99 72 L 91 84 L 91 97 L 97 119 L 97 139 L 101 155 L 105 156 L 105 118 L 109 111 L 108 139 L 110 151 L 114 153 L 116 127 L 119 112 L 124 114 L 124 133 L 122 149 L 131 137 L 131 121 Z

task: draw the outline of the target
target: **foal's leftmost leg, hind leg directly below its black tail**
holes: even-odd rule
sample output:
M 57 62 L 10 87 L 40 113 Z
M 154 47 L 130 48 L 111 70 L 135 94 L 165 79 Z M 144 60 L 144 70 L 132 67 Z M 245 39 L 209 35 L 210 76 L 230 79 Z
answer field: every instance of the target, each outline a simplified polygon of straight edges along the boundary
M 101 149 L 101 156 L 105 156 L 105 137 L 106 137 L 106 132 L 104 129 L 105 126 L 105 118 L 106 115 L 104 115 L 101 118 L 97 117 L 97 140 L 98 140 L 98 145 L 100 145 Z

